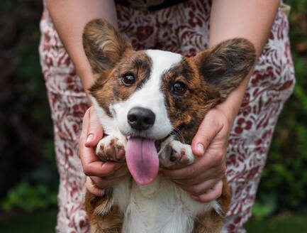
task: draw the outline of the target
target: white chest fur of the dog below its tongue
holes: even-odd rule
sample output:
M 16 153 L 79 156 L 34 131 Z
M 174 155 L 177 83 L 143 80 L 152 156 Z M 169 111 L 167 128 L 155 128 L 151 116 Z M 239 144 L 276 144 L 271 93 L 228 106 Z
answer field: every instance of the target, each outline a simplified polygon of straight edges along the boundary
M 114 187 L 113 198 L 125 215 L 124 233 L 188 233 L 193 230 L 197 214 L 212 208 L 220 211 L 216 200 L 196 202 L 160 175 L 145 186 L 129 178 Z

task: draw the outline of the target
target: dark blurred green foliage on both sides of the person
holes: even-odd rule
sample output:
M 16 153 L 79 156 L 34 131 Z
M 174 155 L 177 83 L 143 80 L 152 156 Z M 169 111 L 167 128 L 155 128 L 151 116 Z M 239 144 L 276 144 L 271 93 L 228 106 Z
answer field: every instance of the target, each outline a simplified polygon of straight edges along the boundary
M 294 94 L 274 133 L 255 217 L 307 210 L 307 0 L 291 4 Z M 40 0 L 3 0 L 0 9 L 0 212 L 33 211 L 57 202 L 52 121 L 41 74 Z

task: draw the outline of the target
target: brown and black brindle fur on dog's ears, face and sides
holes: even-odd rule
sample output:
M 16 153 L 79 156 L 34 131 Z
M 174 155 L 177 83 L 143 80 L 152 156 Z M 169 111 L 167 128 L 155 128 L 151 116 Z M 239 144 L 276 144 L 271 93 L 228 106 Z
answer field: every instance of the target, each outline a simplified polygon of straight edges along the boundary
M 103 20 L 89 22 L 84 28 L 84 50 L 95 75 L 95 84 L 90 92 L 104 111 L 110 103 L 128 99 L 135 90 L 144 85 L 150 77 L 152 61 L 144 50 L 134 51 L 113 27 Z M 180 136 L 177 140 L 191 144 L 196 131 L 206 113 L 223 102 L 246 77 L 255 63 L 255 49 L 252 43 L 242 38 L 226 40 L 210 50 L 199 53 L 194 58 L 184 58 L 163 75 L 162 92 L 168 109 L 172 126 L 177 128 Z M 125 74 L 133 74 L 137 81 L 131 87 L 121 83 Z M 184 82 L 186 92 L 178 96 L 169 92 L 172 83 Z M 110 189 L 112 190 L 112 189 Z M 95 215 L 101 205 L 108 205 L 112 192 L 102 197 L 86 193 L 86 212 L 92 232 L 120 232 L 123 213 L 113 205 L 111 211 L 104 215 Z M 230 188 L 223 178 L 222 195 L 218 202 L 223 213 L 230 203 Z M 193 233 L 219 232 L 223 225 L 223 216 L 216 211 L 201 213 L 196 217 Z

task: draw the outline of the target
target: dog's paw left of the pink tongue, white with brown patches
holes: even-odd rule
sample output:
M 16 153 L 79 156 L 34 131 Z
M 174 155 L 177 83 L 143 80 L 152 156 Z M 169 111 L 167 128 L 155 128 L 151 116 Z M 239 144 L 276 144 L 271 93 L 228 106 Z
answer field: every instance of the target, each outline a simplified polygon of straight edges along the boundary
M 108 135 L 96 147 L 96 155 L 101 161 L 125 161 L 125 144 L 116 136 Z

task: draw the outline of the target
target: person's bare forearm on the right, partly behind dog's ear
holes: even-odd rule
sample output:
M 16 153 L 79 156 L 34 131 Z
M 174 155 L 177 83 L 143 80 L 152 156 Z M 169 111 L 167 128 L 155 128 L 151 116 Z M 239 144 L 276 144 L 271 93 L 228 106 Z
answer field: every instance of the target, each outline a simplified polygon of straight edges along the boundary
M 213 0 L 211 9 L 209 47 L 229 38 L 246 38 L 262 53 L 279 6 L 279 0 Z M 245 94 L 252 71 L 241 85 L 218 107 L 228 112 L 230 121 L 235 119 Z

